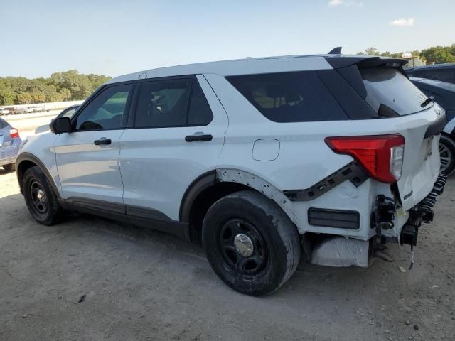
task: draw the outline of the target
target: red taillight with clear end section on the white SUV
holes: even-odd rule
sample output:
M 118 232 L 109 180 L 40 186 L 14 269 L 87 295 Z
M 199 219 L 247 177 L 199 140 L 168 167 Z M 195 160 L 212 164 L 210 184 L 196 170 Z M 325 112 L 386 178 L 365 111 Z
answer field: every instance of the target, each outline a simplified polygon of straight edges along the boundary
M 405 138 L 400 134 L 327 137 L 326 144 L 338 154 L 355 158 L 382 183 L 395 183 L 401 177 Z

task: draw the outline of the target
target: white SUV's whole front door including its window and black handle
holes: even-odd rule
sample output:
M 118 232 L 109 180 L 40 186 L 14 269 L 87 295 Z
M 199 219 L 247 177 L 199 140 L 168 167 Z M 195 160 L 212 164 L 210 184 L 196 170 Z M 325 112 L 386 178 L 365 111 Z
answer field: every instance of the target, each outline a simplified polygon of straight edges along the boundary
M 110 85 L 84 105 L 73 131 L 55 140 L 63 198 L 122 203 L 119 139 L 127 124 L 131 84 Z

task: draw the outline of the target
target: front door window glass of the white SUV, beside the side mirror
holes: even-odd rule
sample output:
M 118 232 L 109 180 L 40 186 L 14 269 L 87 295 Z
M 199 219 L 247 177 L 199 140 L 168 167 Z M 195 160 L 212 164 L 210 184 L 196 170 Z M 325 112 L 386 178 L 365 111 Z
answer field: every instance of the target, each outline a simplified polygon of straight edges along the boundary
M 119 129 L 125 124 L 124 113 L 131 85 L 114 85 L 102 91 L 77 115 L 77 131 Z

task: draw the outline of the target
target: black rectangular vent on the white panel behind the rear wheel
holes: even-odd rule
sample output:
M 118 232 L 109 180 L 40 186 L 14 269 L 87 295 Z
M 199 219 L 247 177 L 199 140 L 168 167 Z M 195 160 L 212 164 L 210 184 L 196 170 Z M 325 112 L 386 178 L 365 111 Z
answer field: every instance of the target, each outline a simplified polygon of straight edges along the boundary
M 357 211 L 311 207 L 308 209 L 308 223 L 337 229 L 360 229 L 360 214 Z

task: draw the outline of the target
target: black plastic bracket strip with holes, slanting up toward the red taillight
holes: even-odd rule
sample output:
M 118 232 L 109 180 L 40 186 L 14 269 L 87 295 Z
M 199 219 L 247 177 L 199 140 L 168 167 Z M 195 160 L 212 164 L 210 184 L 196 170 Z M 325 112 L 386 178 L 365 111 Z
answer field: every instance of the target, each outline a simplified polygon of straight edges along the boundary
M 369 178 L 368 174 L 363 168 L 357 163 L 357 161 L 351 161 L 346 166 L 338 169 L 328 175 L 323 180 L 319 181 L 315 185 L 305 190 L 284 190 L 284 195 L 291 201 L 310 201 L 320 197 L 324 193 L 327 193 L 332 188 L 344 183 L 346 180 L 350 180 L 355 187 L 362 185 Z

